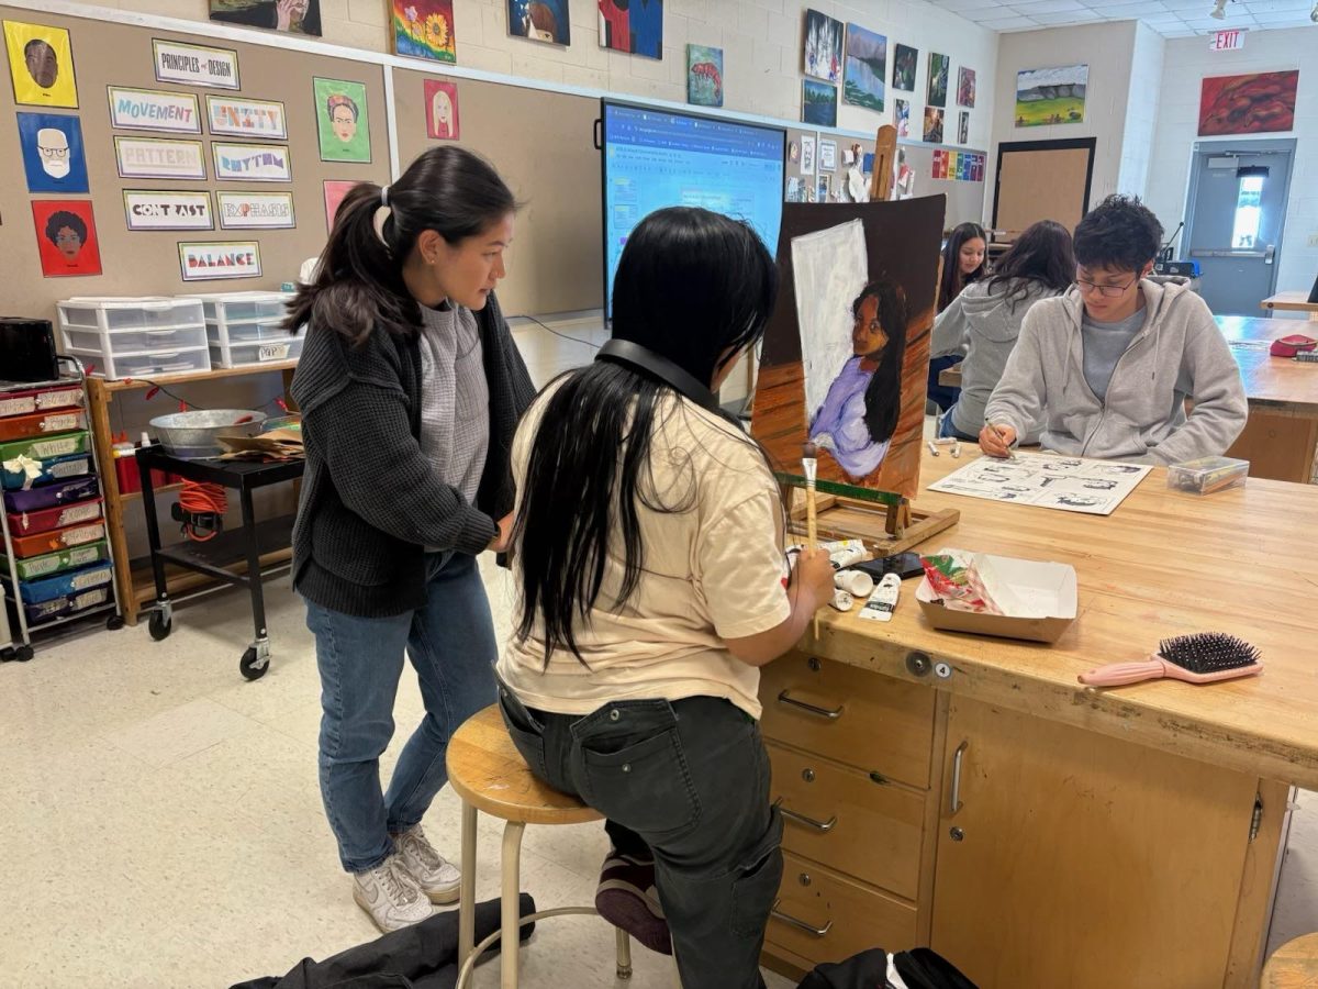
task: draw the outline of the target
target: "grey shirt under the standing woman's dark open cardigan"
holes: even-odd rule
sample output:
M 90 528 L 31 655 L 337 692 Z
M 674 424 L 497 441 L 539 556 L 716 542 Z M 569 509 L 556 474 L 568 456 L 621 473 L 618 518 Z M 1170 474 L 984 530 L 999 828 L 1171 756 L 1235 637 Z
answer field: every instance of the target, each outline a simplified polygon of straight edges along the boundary
M 444 484 L 472 504 L 490 433 L 480 330 L 464 306 L 420 311 L 420 448 Z

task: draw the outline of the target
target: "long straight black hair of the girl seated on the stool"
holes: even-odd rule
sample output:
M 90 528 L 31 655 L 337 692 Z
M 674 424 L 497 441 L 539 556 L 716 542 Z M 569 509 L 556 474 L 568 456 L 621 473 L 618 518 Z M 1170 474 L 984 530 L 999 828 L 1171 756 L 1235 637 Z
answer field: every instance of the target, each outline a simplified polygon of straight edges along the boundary
M 778 269 L 746 223 L 708 210 L 671 207 L 646 216 L 627 237 L 613 281 L 613 336 L 667 357 L 697 381 L 713 381 L 764 335 Z M 650 472 L 651 435 L 677 394 L 626 364 L 596 361 L 571 372 L 547 400 L 531 444 L 513 531 L 522 568 L 525 642 L 539 617 L 544 662 L 555 649 L 579 661 L 573 625 L 600 597 L 617 522 L 623 576 L 613 607 L 637 589 L 645 562 L 641 508 L 683 512 Z M 685 414 L 679 400 L 676 411 Z M 730 430 L 742 436 L 730 421 Z M 753 443 L 746 438 L 746 443 Z M 692 465 L 693 484 L 700 467 Z

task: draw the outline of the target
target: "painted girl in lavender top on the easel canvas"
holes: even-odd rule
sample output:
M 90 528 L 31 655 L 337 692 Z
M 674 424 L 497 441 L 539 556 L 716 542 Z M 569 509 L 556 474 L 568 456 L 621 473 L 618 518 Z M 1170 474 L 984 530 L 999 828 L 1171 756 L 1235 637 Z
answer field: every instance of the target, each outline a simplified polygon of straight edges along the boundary
M 851 303 L 851 316 L 854 356 L 811 419 L 811 440 L 851 479 L 862 480 L 883 464 L 902 414 L 905 293 L 886 278 L 873 281 Z

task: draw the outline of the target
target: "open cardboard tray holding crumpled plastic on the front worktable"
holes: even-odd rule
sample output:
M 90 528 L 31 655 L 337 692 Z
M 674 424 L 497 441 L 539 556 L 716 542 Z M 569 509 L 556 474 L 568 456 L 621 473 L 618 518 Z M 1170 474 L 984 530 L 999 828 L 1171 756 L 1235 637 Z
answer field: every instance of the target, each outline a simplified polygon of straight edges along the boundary
M 940 550 L 953 553 L 953 550 Z M 975 636 L 1023 638 L 1031 642 L 1056 642 L 1078 613 L 1075 568 L 1068 563 L 1015 559 L 973 554 L 986 559 L 996 575 L 1015 593 L 1025 614 L 977 614 L 948 608 L 936 597 L 929 579 L 923 578 L 915 596 L 924 617 L 944 632 L 969 632 Z

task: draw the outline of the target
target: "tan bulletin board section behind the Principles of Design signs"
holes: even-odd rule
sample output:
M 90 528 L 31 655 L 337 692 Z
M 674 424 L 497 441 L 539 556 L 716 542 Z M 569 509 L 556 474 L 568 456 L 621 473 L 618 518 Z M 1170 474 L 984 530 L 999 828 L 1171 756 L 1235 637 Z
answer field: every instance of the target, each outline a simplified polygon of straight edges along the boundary
M 250 45 L 228 38 L 130 26 L 101 20 L 55 16 L 38 11 L 0 7 L 7 21 L 67 28 L 78 90 L 75 109 L 16 105 L 8 70 L 0 79 L 0 160 L 9 162 L 0 183 L 0 257 L 5 258 L 5 314 L 54 319 L 54 303 L 72 295 L 182 295 L 190 291 L 245 291 L 278 289 L 291 281 L 307 257 L 319 255 L 326 243 L 326 179 L 389 181 L 389 140 L 385 113 L 384 67 L 306 51 Z M 240 88 L 202 88 L 156 79 L 152 41 L 181 41 L 225 49 L 237 54 Z M 316 76 L 361 83 L 366 94 L 366 123 L 372 161 L 366 164 L 323 162 L 316 113 L 323 108 L 312 91 Z M 107 87 L 132 87 L 195 96 L 200 113 L 199 135 L 146 129 L 115 129 Z M 273 100 L 285 105 L 287 138 L 257 140 L 214 136 L 207 121 L 207 94 L 248 100 Z M 86 146 L 88 194 L 29 193 L 24 178 L 22 152 L 16 112 L 76 116 Z M 206 179 L 120 178 L 115 137 L 200 141 Z M 217 181 L 211 145 L 286 145 L 291 182 Z M 215 229 L 128 229 L 124 190 L 199 191 L 210 194 Z M 216 193 L 291 193 L 291 229 L 223 229 Z M 90 200 L 95 215 L 101 274 L 47 278 L 42 276 L 33 203 L 50 199 Z M 252 278 L 185 282 L 179 243 L 256 241 L 261 276 Z

